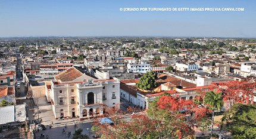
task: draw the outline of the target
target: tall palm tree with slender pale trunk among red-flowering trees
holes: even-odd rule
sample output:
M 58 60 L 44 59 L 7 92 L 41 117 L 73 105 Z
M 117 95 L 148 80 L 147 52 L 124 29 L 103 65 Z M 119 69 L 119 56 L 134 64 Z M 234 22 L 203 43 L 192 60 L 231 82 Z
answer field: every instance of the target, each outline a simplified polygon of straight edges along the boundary
M 212 135 L 213 135 L 213 122 L 214 122 L 214 111 L 217 109 L 220 110 L 223 105 L 224 105 L 224 102 L 223 102 L 223 99 L 220 98 L 221 96 L 221 93 L 216 93 L 216 91 L 214 90 L 211 91 L 211 92 L 207 92 L 205 94 L 205 104 L 209 104 L 211 105 L 211 109 L 213 109 L 213 118 L 212 118 L 212 121 L 211 121 L 211 138 L 212 138 Z

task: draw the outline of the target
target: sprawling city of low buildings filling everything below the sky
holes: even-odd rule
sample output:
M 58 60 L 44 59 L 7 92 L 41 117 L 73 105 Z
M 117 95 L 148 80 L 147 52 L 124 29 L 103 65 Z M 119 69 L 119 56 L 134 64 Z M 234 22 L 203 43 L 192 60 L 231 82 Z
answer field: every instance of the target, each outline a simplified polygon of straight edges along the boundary
M 123 123 L 120 119 L 126 119 L 129 126 L 138 124 L 132 119 L 141 118 L 140 115 L 148 123 L 152 119 L 175 121 L 183 117 L 179 126 L 186 130 L 167 126 L 168 132 L 179 134 L 161 131 L 163 138 L 204 138 L 204 132 L 235 137 L 233 127 L 221 123 L 221 118 L 229 111 L 237 112 L 238 104 L 241 108 L 255 108 L 255 44 L 255 39 L 205 37 L 0 38 L 0 138 L 11 138 L 7 131 L 20 127 L 26 131 L 25 138 L 38 138 L 42 133 L 55 138 L 64 128 L 73 134 L 76 126 L 88 138 L 126 138 L 116 131 L 116 124 Z M 217 107 L 208 99 L 216 94 L 221 99 L 217 101 L 222 101 Z M 168 111 L 168 106 L 176 102 L 182 104 L 175 104 Z M 195 108 L 202 113 L 198 114 Z M 157 113 L 160 111 L 168 111 L 168 116 Z M 205 117 L 211 121 L 211 115 L 218 121 L 214 119 L 212 125 L 209 122 L 201 130 L 197 121 Z M 103 117 L 114 125 L 97 123 Z M 39 125 L 35 122 L 47 130 L 42 125 L 37 130 Z M 158 124 L 162 126 L 163 122 L 167 124 Z M 146 134 L 134 134 L 160 138 L 157 127 L 154 131 L 158 132 L 142 130 Z M 60 138 L 64 136 L 67 137 L 62 134 Z M 255 138 L 255 134 L 245 138 Z

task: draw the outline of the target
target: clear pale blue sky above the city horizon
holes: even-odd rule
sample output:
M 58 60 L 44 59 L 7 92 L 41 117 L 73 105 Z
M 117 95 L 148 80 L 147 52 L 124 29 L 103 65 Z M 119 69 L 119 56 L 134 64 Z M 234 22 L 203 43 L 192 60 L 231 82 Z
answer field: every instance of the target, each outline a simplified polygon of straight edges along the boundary
M 0 1 L 0 37 L 256 37 L 255 1 Z M 244 8 L 244 11 L 120 11 Z

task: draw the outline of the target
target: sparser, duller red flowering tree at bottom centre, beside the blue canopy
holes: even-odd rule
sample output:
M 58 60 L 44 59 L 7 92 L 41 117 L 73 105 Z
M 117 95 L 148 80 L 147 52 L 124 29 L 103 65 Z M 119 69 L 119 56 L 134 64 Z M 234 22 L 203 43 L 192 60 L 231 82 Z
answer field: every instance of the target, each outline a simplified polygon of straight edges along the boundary
M 136 109 L 129 108 L 128 112 L 111 107 L 105 109 L 104 117 L 113 121 L 113 125 L 102 124 L 101 118 L 94 121 L 92 131 L 102 138 L 157 138 L 161 127 L 161 121 L 150 119 L 143 112 L 138 113 Z M 135 112 L 132 114 L 132 112 Z

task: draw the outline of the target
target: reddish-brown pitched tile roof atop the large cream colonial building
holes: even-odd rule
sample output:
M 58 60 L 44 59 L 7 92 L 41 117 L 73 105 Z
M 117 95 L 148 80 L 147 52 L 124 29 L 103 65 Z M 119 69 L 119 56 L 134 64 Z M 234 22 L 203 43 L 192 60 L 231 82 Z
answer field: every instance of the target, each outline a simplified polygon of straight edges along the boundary
M 61 72 L 60 74 L 55 76 L 55 79 L 61 80 L 61 82 L 68 82 L 77 79 L 77 77 L 82 76 L 83 73 L 77 70 L 74 67 L 70 67 L 69 69 Z

